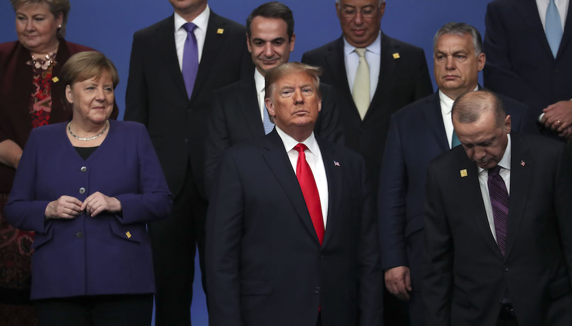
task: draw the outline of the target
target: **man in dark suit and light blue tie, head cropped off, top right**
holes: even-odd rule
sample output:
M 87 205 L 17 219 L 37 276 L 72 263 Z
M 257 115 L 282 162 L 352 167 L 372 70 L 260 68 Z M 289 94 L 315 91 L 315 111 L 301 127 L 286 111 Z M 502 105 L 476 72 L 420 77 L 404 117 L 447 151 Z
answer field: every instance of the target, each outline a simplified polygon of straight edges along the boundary
M 497 0 L 485 17 L 484 86 L 521 101 L 541 132 L 572 136 L 569 0 Z M 543 114 L 543 115 L 542 115 Z

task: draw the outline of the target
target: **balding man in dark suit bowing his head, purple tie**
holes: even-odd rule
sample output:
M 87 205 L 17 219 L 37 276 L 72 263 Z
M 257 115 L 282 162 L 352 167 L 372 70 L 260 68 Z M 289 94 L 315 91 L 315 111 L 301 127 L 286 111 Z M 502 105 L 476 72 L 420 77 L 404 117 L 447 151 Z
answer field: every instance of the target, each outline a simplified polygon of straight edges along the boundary
M 428 326 L 572 325 L 572 161 L 509 134 L 480 90 L 453 105 L 462 146 L 429 166 L 423 302 Z

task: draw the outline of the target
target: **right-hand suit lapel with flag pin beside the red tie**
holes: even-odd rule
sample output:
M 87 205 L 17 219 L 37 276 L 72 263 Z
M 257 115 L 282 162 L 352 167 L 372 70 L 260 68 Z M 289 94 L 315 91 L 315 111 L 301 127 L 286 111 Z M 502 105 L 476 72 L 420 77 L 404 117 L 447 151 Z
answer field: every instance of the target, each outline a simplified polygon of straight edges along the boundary
M 325 166 L 325 174 L 328 179 L 328 218 L 325 225 L 324 241 L 322 243 L 322 247 L 325 247 L 332 237 L 333 229 L 339 217 L 337 212 L 340 211 L 341 189 L 343 187 L 342 169 L 344 168 L 344 162 L 339 162 L 335 150 L 329 146 L 329 144 L 318 139 L 318 145 L 320 146 L 320 152 Z M 334 165 L 333 161 L 339 162 L 340 166 Z

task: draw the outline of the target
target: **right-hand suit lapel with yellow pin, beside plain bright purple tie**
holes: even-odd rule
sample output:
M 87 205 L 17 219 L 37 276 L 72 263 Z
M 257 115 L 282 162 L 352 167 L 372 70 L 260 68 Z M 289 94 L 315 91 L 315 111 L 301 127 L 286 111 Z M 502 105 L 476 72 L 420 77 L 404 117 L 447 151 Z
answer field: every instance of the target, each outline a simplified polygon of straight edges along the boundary
M 191 101 L 197 97 L 206 77 L 208 77 L 210 68 L 216 62 L 217 53 L 219 53 L 220 46 L 223 45 L 226 34 L 217 33 L 219 29 L 223 29 L 226 23 L 219 19 L 219 15 L 210 11 L 209 22 L 206 25 L 205 43 L 202 47 L 201 62 L 198 64 L 197 78 L 194 81 L 193 94 L 190 98 Z

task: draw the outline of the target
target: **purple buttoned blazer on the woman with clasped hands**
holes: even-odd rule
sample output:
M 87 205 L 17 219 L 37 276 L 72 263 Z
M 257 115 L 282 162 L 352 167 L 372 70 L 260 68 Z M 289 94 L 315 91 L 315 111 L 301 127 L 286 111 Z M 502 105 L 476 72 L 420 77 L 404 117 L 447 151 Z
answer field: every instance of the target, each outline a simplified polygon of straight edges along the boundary
M 145 223 L 165 218 L 172 198 L 145 126 L 109 122 L 108 136 L 85 161 L 67 139 L 66 122 L 30 133 L 5 215 L 36 232 L 31 299 L 155 291 Z M 117 197 L 122 212 L 45 220 L 50 201 L 84 201 L 97 191 Z

